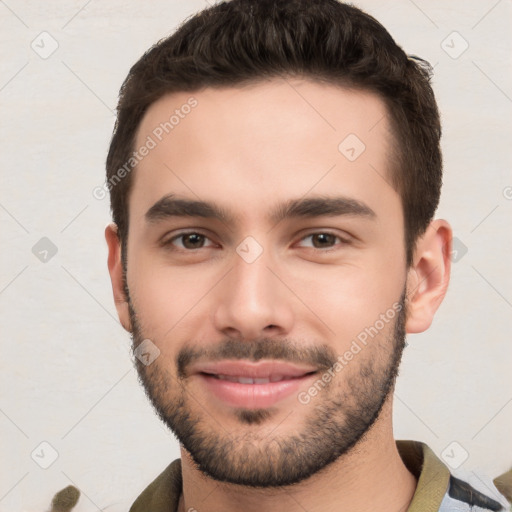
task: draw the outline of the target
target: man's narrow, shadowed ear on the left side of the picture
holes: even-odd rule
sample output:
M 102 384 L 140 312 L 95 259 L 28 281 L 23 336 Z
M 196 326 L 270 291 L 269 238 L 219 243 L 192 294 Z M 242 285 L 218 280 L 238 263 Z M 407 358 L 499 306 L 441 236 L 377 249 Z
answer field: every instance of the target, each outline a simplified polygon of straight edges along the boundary
M 128 300 L 124 292 L 123 263 L 121 260 L 121 241 L 119 240 L 117 226 L 114 223 L 105 228 L 105 239 L 108 245 L 108 271 L 112 281 L 114 302 L 121 325 L 132 332 Z

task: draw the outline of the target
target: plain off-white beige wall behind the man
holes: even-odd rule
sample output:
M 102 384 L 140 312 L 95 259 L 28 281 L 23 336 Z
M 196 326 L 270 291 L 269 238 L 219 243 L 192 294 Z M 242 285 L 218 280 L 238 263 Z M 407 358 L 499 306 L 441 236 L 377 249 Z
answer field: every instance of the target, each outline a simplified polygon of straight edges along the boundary
M 356 3 L 435 65 L 439 216 L 457 237 L 448 296 L 409 337 L 395 437 L 485 490 L 512 464 L 512 2 Z M 0 511 L 46 510 L 70 483 L 77 512 L 127 510 L 179 456 L 137 383 L 106 267 L 108 199 L 93 190 L 129 67 L 206 5 L 0 2 Z

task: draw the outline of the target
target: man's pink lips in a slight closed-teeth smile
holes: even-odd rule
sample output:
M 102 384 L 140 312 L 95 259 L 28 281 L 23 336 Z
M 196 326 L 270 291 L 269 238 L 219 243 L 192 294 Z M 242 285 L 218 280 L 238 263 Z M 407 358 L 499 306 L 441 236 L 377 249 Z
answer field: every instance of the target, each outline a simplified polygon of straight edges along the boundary
M 200 379 L 207 394 L 222 403 L 260 409 L 297 394 L 317 372 L 313 367 L 279 361 L 220 361 L 198 365 L 192 374 Z

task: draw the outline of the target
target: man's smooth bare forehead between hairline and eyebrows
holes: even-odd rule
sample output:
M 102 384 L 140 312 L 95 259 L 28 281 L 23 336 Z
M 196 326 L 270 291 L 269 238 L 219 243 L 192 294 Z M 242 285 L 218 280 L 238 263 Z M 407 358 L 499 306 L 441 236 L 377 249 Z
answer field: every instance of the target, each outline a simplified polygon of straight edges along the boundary
M 135 149 L 144 146 L 130 198 L 137 216 L 169 193 L 241 215 L 309 191 L 396 200 L 386 107 L 361 90 L 290 78 L 169 94 L 139 126 Z

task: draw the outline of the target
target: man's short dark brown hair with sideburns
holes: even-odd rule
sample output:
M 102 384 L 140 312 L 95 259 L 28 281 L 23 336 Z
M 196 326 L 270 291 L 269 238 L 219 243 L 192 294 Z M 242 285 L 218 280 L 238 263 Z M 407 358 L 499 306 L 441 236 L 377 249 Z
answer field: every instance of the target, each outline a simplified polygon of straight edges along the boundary
M 130 69 L 107 157 L 111 209 L 123 249 L 134 151 L 148 107 L 172 92 L 242 86 L 280 76 L 376 93 L 394 134 L 392 186 L 402 200 L 407 262 L 439 203 L 441 125 L 430 65 L 408 56 L 362 10 L 337 0 L 231 0 L 207 8 L 150 48 Z M 125 250 L 123 250 L 123 255 Z

